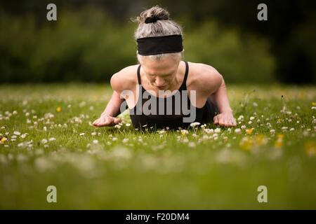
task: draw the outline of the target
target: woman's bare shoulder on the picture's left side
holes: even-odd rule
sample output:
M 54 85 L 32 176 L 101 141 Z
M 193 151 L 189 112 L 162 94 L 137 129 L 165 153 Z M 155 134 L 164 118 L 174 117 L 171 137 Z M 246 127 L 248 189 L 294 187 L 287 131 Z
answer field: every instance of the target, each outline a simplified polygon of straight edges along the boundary
M 114 91 L 132 90 L 137 84 L 138 64 L 127 66 L 111 77 L 111 87 Z

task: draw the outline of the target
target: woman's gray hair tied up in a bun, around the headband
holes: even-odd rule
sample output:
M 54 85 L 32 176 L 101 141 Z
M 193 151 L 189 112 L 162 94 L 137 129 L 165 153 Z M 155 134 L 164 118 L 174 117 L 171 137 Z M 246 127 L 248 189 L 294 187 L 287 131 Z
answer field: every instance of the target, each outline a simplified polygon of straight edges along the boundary
M 138 22 L 138 27 L 135 31 L 135 39 L 150 37 L 150 36 L 166 36 L 166 35 L 182 35 L 183 29 L 178 25 L 178 23 L 173 20 L 169 20 L 169 12 L 164 8 L 159 6 L 154 6 L 140 13 L 140 16 L 132 19 L 133 22 Z M 155 16 L 158 18 L 157 22 L 145 23 L 146 18 Z M 183 58 L 183 52 L 173 52 L 173 53 L 163 53 L 159 55 L 139 55 L 137 52 L 138 62 L 143 59 L 143 57 L 148 57 L 156 61 L 162 60 L 164 57 L 171 56 L 179 61 Z

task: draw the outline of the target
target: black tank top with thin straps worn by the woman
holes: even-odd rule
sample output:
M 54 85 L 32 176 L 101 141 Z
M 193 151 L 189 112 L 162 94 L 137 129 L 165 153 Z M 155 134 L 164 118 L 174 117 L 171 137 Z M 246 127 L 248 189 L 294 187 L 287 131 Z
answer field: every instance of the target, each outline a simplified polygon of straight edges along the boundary
M 129 109 L 131 121 L 134 127 L 156 127 L 156 128 L 164 128 L 169 127 L 171 129 L 178 129 L 178 127 L 188 127 L 192 122 L 202 123 L 207 117 L 207 109 L 206 105 L 204 105 L 201 109 L 192 106 L 190 102 L 190 98 L 187 95 L 187 75 L 189 73 L 189 65 L 185 61 L 185 76 L 183 78 L 183 83 L 180 85 L 177 94 L 172 94 L 170 97 L 155 97 L 150 94 L 148 91 L 144 89 L 141 85 L 140 81 L 140 66 L 138 66 L 137 70 L 137 78 L 138 78 L 138 100 L 136 106 L 133 109 Z M 147 92 L 147 93 L 145 93 Z M 146 97 L 142 97 L 146 96 Z M 180 96 L 180 97 L 179 97 Z M 186 99 L 183 99 L 185 97 Z M 148 104 L 148 100 L 152 99 L 156 102 L 156 108 L 154 108 L 154 104 Z M 146 105 L 147 102 L 147 105 Z M 161 105 L 164 106 L 161 106 Z M 160 109 L 159 109 L 160 105 Z M 171 105 L 171 107 L 170 107 Z M 185 106 L 185 111 L 183 111 L 183 106 Z M 144 108 L 150 109 L 150 113 L 145 112 Z M 168 110 L 169 111 L 168 111 Z M 172 113 L 171 113 L 172 109 Z M 187 110 L 186 110 L 187 109 Z M 195 112 L 192 112 L 195 110 Z M 169 113 L 167 113 L 167 111 Z M 180 113 L 179 113 L 180 111 Z M 189 112 L 190 111 L 190 112 Z M 190 118 L 190 115 L 196 114 L 196 116 L 192 116 L 195 118 L 194 120 L 189 119 L 189 122 L 184 122 L 183 118 Z

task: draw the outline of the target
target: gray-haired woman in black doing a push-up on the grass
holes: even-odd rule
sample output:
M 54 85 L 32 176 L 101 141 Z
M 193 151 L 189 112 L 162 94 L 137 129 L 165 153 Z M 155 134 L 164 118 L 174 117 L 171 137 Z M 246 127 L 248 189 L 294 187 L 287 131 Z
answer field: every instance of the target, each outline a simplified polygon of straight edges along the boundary
M 154 6 L 134 21 L 139 24 L 139 64 L 112 76 L 112 98 L 93 125 L 117 125 L 125 104 L 135 127 L 178 128 L 211 121 L 235 126 L 223 76 L 207 64 L 182 60 L 183 31 L 169 20 L 168 11 Z

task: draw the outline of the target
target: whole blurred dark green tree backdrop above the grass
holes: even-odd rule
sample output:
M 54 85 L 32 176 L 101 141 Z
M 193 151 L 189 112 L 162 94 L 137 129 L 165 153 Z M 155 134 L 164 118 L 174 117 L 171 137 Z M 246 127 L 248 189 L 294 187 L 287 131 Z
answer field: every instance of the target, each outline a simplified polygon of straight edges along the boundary
M 55 3 L 58 20 L 46 20 Z M 257 20 L 258 3 L 268 21 Z M 1 83 L 108 81 L 136 64 L 137 25 L 158 4 L 184 29 L 185 59 L 230 82 L 315 83 L 313 1 L 0 1 Z

